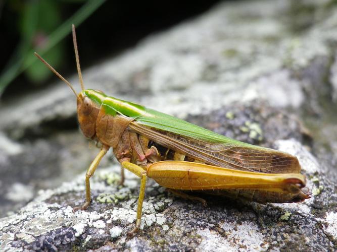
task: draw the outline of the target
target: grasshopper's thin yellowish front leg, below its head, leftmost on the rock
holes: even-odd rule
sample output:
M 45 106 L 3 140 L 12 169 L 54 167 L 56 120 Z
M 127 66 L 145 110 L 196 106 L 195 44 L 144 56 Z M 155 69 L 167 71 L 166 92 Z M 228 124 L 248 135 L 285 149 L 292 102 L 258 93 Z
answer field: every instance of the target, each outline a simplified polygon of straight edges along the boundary
M 110 148 L 109 146 L 104 145 L 102 147 L 100 153 L 95 157 L 95 159 L 90 164 L 88 170 L 86 171 L 86 173 L 85 173 L 85 202 L 84 202 L 83 206 L 81 206 L 81 207 L 74 207 L 73 213 L 77 210 L 85 210 L 89 207 L 90 202 L 91 202 L 90 177 L 95 172 L 96 168 L 100 164 L 104 155 L 107 154 L 109 148 Z

